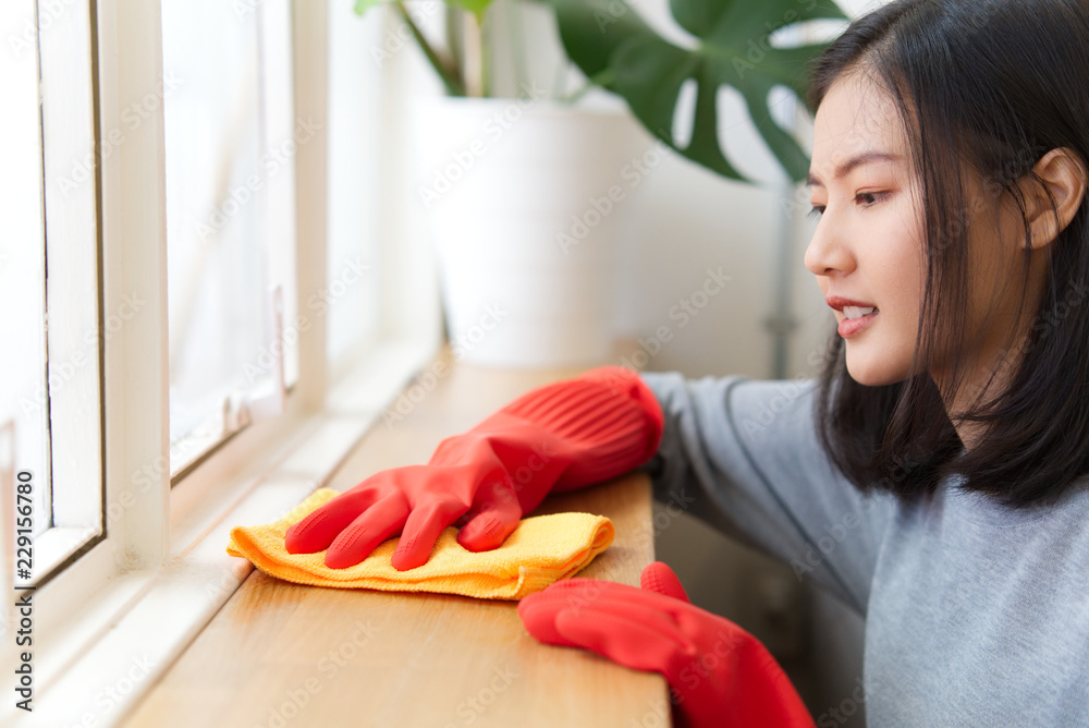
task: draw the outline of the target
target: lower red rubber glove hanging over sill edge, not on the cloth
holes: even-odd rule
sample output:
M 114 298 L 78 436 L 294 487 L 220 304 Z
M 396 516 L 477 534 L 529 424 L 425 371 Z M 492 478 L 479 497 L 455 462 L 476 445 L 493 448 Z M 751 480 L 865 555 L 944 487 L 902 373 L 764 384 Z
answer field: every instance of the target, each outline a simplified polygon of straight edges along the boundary
M 682 725 L 812 728 L 794 685 L 755 636 L 693 606 L 661 561 L 643 570 L 640 583 L 568 579 L 522 599 L 518 615 L 541 642 L 661 672 Z

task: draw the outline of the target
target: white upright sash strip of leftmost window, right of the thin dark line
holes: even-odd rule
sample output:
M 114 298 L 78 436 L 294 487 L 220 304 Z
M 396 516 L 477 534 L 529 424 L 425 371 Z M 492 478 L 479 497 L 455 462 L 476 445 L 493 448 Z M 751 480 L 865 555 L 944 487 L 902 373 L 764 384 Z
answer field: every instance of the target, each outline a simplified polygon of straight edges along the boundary
M 56 8 L 53 8 L 56 9 Z M 39 10 L 39 15 L 41 14 Z M 102 438 L 99 337 L 125 318 L 99 311 L 95 109 L 88 0 L 66 7 L 39 34 L 46 202 L 46 302 L 50 463 L 36 474 L 51 489 L 53 525 L 35 539 L 42 578 L 102 533 Z M 86 59 L 71 63 L 72 57 Z M 85 172 L 78 181 L 76 170 Z M 46 470 L 46 469 L 44 469 Z

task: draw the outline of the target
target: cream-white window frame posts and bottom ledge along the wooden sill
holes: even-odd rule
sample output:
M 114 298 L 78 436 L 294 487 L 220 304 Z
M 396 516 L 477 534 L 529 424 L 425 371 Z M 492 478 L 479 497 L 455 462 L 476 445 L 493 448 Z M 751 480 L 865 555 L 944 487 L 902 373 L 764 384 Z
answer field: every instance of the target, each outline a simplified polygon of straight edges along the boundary
M 149 31 L 160 13 L 157 0 L 98 0 L 96 10 L 99 129 L 109 130 L 161 78 L 161 38 Z M 329 12 L 328 0 L 292 3 L 295 117 L 322 129 Z M 393 90 L 406 82 L 387 77 L 387 129 L 404 125 L 406 99 Z M 389 160 L 383 169 L 397 189 L 402 172 Z M 319 133 L 296 157 L 299 301 L 326 284 L 326 174 Z M 225 555 L 230 527 L 273 520 L 321 485 L 441 343 L 429 252 L 394 218 L 383 234 L 383 338 L 331 379 L 315 320 L 299 331 L 299 378 L 283 415 L 237 433 L 171 489 L 161 105 L 102 159 L 100 181 L 102 310 L 133 291 L 146 301 L 105 347 L 107 532 L 35 592 L 34 713 L 4 701 L 5 726 L 123 719 L 249 573 Z

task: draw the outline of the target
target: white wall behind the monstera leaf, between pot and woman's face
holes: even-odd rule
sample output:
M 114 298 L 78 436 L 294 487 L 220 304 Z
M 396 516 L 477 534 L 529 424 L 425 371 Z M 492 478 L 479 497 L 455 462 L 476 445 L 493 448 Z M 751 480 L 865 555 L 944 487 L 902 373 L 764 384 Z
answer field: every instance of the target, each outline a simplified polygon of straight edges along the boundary
M 643 0 L 637 8 L 660 32 L 683 43 L 684 34 L 673 23 L 666 0 Z M 499 59 L 510 51 L 513 21 L 504 2 L 497 10 Z M 522 19 L 526 73 L 533 78 L 555 78 L 563 52 L 551 11 L 528 3 Z M 509 93 L 516 86 L 512 65 L 497 62 L 495 70 L 498 89 Z M 572 71 L 566 87 L 577 88 L 580 78 Z M 621 302 L 622 325 L 636 337 L 649 337 L 663 325 L 675 335 L 648 368 L 676 369 L 689 376 L 771 377 L 772 337 L 763 321 L 774 311 L 779 245 L 785 234 L 793 248 L 793 314 L 798 324 L 785 376 L 809 376 L 815 372 L 813 352 L 831 332 L 833 317 L 803 264 L 811 233 L 805 217 L 808 191 L 780 181 L 785 175 L 752 129 L 746 110 L 729 92 L 723 96 L 720 126 L 729 130 L 724 134 L 727 154 L 743 172 L 762 184 L 733 182 L 668 153 L 644 178 L 637 194 L 625 199 L 633 215 L 633 238 L 625 260 L 629 268 Z M 619 104 L 603 92 L 587 98 L 602 105 Z M 644 149 L 649 150 L 652 144 L 649 134 L 645 135 Z M 803 205 L 791 204 L 798 202 Z M 722 268 L 732 277 L 730 284 L 687 321 L 671 318 L 671 310 L 676 315 L 678 302 L 701 287 L 708 268 Z

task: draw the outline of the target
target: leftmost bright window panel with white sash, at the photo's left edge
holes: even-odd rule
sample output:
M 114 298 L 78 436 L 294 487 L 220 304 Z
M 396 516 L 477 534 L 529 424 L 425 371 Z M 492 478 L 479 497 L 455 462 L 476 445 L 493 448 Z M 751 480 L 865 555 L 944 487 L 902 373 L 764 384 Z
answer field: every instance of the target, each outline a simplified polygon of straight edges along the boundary
M 0 243 L 0 428 L 14 469 L 32 474 L 34 558 L 19 575 L 40 583 L 102 533 L 90 11 L 73 0 L 64 22 L 38 33 L 33 1 L 4 4 L 3 15 L 26 21 L 0 74 L 0 131 L 17 141 L 5 149 L 0 190 L 10 205 Z

